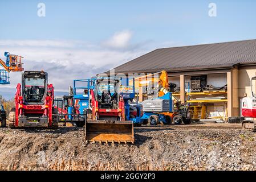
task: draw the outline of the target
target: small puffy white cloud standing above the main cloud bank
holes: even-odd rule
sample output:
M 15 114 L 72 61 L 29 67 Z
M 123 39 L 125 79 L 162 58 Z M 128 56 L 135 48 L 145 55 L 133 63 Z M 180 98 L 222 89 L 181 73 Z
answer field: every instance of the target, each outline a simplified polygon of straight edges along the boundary
M 110 48 L 127 48 L 132 38 L 132 32 L 124 30 L 116 32 L 110 39 L 103 42 L 103 46 Z

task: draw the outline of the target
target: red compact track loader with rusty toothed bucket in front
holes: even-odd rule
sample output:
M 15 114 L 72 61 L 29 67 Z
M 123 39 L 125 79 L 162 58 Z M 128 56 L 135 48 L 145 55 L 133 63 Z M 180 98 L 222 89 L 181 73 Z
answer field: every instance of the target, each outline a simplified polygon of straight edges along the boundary
M 86 121 L 86 140 L 104 143 L 134 143 L 133 122 L 125 121 L 121 80 L 99 78 L 90 90 L 90 117 Z M 89 114 L 88 114 L 89 116 Z

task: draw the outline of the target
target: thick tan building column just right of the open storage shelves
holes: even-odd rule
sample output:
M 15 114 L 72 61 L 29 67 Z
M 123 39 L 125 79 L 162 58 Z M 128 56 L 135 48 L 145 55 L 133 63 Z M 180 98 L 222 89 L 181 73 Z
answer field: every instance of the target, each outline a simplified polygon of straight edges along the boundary
M 227 117 L 239 117 L 238 68 L 227 72 Z

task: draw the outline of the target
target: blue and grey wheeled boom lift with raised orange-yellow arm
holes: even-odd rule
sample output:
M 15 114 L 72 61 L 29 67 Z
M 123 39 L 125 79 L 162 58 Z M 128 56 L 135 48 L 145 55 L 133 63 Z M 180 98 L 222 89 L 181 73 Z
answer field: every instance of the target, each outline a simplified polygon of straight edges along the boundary
M 161 73 L 160 77 L 153 77 Z M 190 112 L 188 106 L 181 104 L 180 101 L 169 92 L 168 74 L 166 71 L 158 72 L 150 75 L 149 80 L 158 82 L 157 97 L 151 100 L 145 100 L 141 102 L 143 105 L 143 117 L 141 120 L 144 125 L 149 122 L 151 125 L 157 125 L 160 122 L 164 125 L 170 125 L 172 122 L 175 124 L 184 123 L 185 125 L 190 124 Z M 141 78 L 137 78 L 140 79 Z M 173 101 L 176 100 L 174 103 Z

